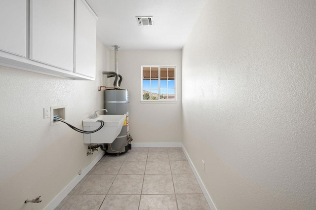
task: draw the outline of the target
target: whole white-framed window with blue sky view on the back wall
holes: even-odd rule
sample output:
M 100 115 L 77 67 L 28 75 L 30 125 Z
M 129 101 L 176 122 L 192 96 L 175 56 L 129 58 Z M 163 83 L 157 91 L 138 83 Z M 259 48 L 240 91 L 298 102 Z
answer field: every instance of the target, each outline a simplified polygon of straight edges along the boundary
M 142 101 L 175 101 L 175 82 L 175 66 L 142 66 Z

